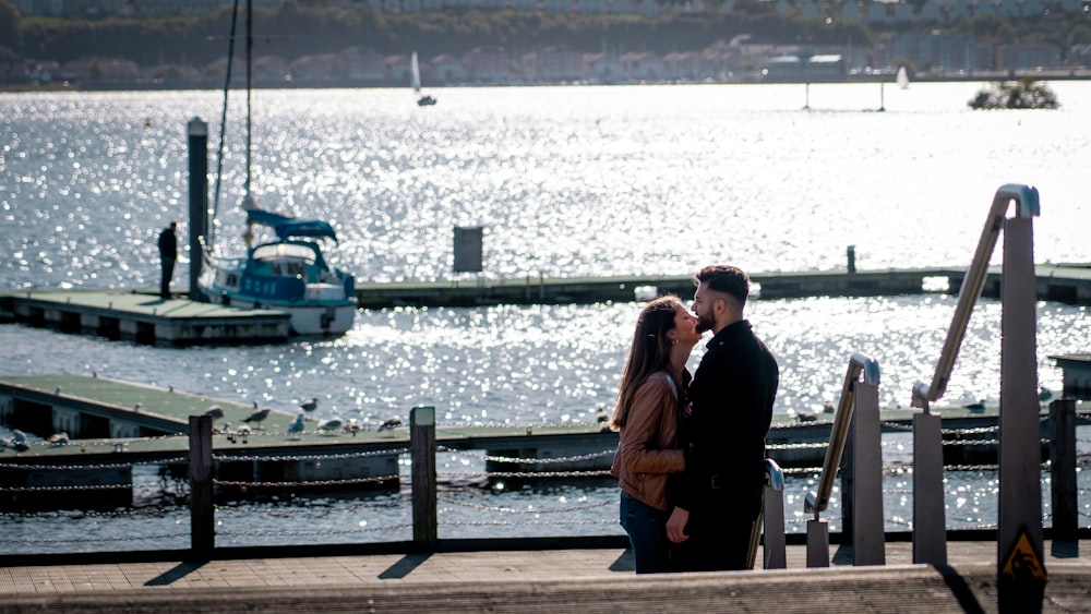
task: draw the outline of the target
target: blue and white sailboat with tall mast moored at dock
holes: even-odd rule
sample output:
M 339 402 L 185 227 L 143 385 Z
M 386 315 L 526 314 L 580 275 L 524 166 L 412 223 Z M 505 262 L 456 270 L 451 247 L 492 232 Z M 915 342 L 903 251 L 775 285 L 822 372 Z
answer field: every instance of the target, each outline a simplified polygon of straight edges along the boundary
M 248 1 L 248 10 L 250 4 Z M 247 20 L 248 26 L 250 23 Z M 248 27 L 248 50 L 250 40 L 252 33 Z M 333 226 L 262 209 L 250 191 L 251 67 L 249 52 L 247 56 L 247 184 L 242 198 L 247 252 L 216 257 L 214 237 L 209 234 L 197 288 L 207 300 L 225 305 L 286 312 L 291 316 L 291 334 L 296 336 L 344 335 L 356 320 L 356 278 L 331 266 L 323 253 L 323 241 L 337 242 Z M 227 109 L 226 87 L 224 108 Z M 224 117 L 226 121 L 226 112 Z M 263 237 L 255 243 L 255 227 L 266 229 L 263 236 L 271 232 L 272 237 Z

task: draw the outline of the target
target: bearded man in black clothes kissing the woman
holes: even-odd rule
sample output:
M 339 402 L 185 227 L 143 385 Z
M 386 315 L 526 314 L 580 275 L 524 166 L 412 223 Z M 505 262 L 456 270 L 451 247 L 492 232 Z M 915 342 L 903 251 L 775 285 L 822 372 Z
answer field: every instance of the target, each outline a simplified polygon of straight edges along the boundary
M 733 266 L 696 276 L 697 329 L 711 330 L 690 387 L 680 441 L 685 472 L 675 480 L 667 533 L 685 571 L 747 568 L 750 538 L 762 508 L 765 436 L 780 370 L 743 318 L 750 278 Z

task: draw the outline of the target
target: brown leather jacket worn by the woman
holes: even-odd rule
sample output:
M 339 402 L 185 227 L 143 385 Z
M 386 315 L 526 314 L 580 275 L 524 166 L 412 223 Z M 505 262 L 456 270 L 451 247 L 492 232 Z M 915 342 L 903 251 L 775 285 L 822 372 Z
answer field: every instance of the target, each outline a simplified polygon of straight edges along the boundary
M 676 385 L 666 371 L 652 373 L 633 396 L 610 472 L 621 490 L 656 509 L 670 509 L 667 477 L 685 469 L 678 426 Z

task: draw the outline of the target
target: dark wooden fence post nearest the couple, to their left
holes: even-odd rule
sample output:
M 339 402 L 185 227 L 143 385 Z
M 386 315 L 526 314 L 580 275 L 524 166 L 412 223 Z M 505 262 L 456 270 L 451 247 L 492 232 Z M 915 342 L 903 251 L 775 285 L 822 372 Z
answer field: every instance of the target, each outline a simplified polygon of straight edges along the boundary
M 435 493 L 435 408 L 409 412 L 409 455 L 412 457 L 412 541 L 439 540 Z

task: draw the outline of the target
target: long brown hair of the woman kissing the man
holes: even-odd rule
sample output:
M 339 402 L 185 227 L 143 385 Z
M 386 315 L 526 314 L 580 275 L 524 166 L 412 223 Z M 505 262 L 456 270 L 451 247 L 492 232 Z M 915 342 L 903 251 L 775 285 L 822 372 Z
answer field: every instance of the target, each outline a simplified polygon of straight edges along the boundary
M 671 340 L 667 332 L 674 328 L 675 310 L 682 305 L 678 297 L 660 297 L 647 304 L 636 321 L 633 347 L 628 351 L 625 371 L 621 375 L 621 389 L 614 407 L 610 428 L 620 430 L 628 421 L 628 409 L 636 390 L 648 375 L 668 369 L 671 359 Z

